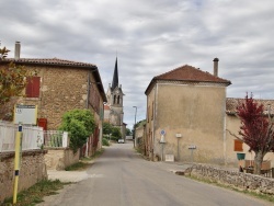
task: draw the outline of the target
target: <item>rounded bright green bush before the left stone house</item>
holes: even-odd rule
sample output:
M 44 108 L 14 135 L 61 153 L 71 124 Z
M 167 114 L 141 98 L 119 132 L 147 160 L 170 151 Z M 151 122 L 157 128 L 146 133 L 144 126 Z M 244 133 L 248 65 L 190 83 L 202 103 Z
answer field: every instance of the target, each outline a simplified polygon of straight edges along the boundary
M 68 111 L 62 116 L 61 130 L 69 133 L 69 147 L 76 152 L 85 142 L 88 137 L 93 134 L 95 121 L 89 110 Z

